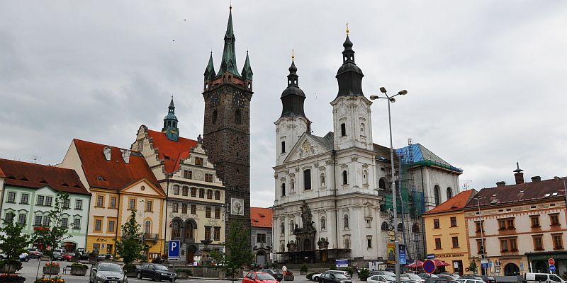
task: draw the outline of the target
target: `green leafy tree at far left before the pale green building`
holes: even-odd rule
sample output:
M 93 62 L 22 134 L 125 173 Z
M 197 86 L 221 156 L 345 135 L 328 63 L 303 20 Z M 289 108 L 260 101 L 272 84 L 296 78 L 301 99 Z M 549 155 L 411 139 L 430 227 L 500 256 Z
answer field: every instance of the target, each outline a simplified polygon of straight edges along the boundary
M 15 215 L 12 212 L 8 213 L 11 217 L 6 217 L 4 226 L 0 227 L 0 250 L 6 253 L 6 263 L 14 263 L 20 270 L 20 255 L 26 253 L 28 245 L 33 243 L 33 238 L 28 234 L 22 234 L 23 225 L 15 223 L 13 221 Z

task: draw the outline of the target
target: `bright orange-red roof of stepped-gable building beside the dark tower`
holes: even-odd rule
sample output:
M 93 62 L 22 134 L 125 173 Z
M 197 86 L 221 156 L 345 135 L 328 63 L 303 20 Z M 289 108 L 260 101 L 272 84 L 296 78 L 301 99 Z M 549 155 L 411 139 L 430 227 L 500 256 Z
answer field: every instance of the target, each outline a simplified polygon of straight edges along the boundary
M 189 158 L 189 150 L 197 146 L 197 141 L 179 137 L 178 141 L 167 139 L 165 133 L 147 129 L 148 137 L 152 138 L 152 145 L 159 152 L 159 160 L 163 160 L 165 171 L 168 173 L 179 170 L 181 158 Z

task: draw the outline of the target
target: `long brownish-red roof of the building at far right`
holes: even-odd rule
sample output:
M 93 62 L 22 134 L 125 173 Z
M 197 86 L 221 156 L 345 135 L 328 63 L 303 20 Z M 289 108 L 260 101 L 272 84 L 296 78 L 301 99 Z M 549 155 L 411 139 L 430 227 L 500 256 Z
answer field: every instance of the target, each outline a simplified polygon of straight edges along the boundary
M 554 195 L 555 194 L 555 195 Z M 553 197 L 564 197 L 563 180 L 541 180 L 520 185 L 505 185 L 502 187 L 487 187 L 478 192 L 481 206 L 498 205 L 513 202 L 543 200 Z M 466 207 L 477 207 L 477 202 L 471 202 Z

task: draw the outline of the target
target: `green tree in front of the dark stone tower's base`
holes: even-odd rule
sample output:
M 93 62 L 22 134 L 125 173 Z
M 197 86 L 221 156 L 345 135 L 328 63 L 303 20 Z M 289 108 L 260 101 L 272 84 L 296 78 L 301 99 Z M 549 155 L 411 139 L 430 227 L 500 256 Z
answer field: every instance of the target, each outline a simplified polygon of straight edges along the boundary
M 243 229 L 238 221 L 232 221 L 229 224 L 228 235 L 226 236 L 225 250 L 226 252 L 217 252 L 213 250 L 210 257 L 215 260 L 220 270 L 225 275 L 232 277 L 234 282 L 235 275 L 238 270 L 246 265 L 250 265 L 254 259 L 254 254 L 249 248 L 249 229 Z

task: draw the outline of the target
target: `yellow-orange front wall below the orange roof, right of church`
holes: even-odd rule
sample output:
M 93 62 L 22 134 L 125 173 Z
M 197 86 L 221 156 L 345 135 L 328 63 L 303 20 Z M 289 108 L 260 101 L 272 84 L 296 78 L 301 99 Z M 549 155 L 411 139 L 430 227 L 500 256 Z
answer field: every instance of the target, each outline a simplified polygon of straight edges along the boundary
M 466 233 L 466 222 L 463 211 L 445 212 L 439 214 L 425 214 L 422 216 L 425 222 L 425 235 L 427 253 L 434 253 L 435 258 L 449 263 L 445 267 L 447 272 L 455 272 L 453 262 L 462 260 L 463 272 L 468 267 L 468 238 Z M 456 226 L 451 227 L 451 217 L 456 217 Z M 439 219 L 439 229 L 434 229 L 434 219 Z M 459 239 L 459 247 L 453 248 L 453 237 Z M 435 239 L 441 239 L 441 248 L 436 249 Z

